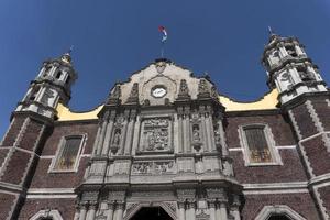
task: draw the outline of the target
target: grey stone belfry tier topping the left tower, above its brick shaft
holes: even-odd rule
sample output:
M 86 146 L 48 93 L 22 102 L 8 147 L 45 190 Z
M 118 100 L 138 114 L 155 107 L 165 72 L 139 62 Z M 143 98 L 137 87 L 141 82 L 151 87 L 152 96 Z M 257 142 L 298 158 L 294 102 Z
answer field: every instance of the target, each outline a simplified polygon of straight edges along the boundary
M 15 111 L 31 111 L 53 119 L 57 103 L 67 105 L 70 99 L 70 87 L 76 79 L 70 51 L 59 58 L 45 61 Z

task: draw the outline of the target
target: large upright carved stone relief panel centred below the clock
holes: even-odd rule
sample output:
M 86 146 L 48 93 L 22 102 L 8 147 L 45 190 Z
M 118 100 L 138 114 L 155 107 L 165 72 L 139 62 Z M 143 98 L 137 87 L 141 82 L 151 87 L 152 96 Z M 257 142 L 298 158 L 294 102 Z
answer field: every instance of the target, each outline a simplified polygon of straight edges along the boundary
M 143 151 L 168 151 L 169 119 L 147 119 L 143 122 Z

